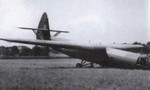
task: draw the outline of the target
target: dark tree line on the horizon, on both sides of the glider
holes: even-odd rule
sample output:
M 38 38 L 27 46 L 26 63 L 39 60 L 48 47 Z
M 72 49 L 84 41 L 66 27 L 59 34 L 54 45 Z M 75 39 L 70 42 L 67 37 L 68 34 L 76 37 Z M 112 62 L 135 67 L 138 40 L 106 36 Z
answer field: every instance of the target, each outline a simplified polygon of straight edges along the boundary
M 127 44 L 127 43 L 124 43 Z M 150 53 L 150 42 L 147 44 L 142 44 L 140 42 L 134 42 L 133 45 L 143 45 L 143 53 Z M 0 56 L 49 56 L 49 52 L 58 53 L 57 51 L 46 47 L 46 46 L 34 46 L 29 48 L 27 46 L 0 46 Z M 136 52 L 136 51 L 135 51 Z M 139 51 L 137 51 L 139 52 Z

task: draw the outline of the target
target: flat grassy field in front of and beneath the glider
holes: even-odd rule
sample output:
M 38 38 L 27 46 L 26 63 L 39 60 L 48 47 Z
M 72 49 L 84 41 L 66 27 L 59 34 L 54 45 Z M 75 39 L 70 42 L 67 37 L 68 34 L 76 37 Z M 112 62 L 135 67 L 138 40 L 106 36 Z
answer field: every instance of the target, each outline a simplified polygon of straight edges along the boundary
M 150 71 L 74 68 L 76 59 L 0 60 L 0 90 L 149 90 Z

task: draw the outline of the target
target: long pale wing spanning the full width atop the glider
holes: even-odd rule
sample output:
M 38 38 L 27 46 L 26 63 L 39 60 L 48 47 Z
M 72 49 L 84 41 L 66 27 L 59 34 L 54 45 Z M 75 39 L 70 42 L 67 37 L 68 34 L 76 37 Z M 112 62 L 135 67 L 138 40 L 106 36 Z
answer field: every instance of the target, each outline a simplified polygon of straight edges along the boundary
M 49 41 L 49 40 L 27 40 L 27 39 L 3 39 L 0 40 L 8 42 L 16 42 L 23 44 L 33 44 L 33 45 L 43 45 L 56 48 L 69 48 L 69 49 L 86 49 L 86 50 L 102 50 L 108 47 L 128 50 L 128 49 L 137 49 L 142 48 L 142 45 L 92 45 L 92 44 L 81 44 L 81 43 L 71 43 L 71 42 L 61 42 L 61 41 Z

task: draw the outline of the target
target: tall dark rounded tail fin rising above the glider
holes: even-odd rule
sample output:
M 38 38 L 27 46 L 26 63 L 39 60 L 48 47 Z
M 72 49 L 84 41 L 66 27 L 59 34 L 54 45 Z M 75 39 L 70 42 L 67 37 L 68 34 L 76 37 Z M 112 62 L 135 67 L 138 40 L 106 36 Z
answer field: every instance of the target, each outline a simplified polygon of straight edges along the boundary
M 36 39 L 41 39 L 41 40 L 51 40 L 51 35 L 50 35 L 50 27 L 49 27 L 49 21 L 48 21 L 48 16 L 44 12 L 41 20 L 39 22 L 38 28 L 40 29 L 47 29 L 47 30 L 37 30 L 36 32 Z

